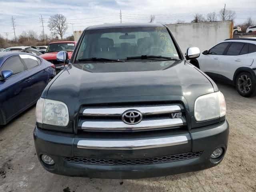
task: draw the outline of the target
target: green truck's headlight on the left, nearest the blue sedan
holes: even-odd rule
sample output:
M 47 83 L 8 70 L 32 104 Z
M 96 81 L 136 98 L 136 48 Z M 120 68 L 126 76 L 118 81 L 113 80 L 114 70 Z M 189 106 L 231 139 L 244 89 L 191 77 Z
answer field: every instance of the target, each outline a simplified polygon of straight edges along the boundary
M 36 103 L 36 122 L 66 127 L 69 122 L 68 107 L 60 101 L 40 98 Z

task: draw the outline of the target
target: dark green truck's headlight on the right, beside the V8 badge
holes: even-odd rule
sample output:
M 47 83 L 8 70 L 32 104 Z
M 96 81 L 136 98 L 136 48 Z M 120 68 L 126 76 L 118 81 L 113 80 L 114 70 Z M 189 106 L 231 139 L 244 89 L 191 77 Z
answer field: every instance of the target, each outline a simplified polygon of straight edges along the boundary
M 196 99 L 194 117 L 196 121 L 205 121 L 226 115 L 226 102 L 222 92 L 214 92 Z

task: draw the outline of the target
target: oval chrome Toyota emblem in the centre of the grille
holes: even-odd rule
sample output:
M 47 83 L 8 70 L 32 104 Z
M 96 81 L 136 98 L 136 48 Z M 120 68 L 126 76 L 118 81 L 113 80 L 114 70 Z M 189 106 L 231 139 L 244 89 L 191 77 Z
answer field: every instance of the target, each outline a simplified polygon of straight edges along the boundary
M 128 110 L 122 114 L 122 121 L 126 124 L 134 125 L 142 120 L 141 112 L 137 110 Z

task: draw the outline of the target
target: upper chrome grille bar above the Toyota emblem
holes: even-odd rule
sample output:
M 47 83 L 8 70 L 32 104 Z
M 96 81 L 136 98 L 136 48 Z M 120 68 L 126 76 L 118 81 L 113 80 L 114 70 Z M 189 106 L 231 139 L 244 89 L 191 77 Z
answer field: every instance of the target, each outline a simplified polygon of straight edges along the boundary
M 120 116 L 127 110 L 138 110 L 143 115 L 165 114 L 180 112 L 178 105 L 148 106 L 148 107 L 125 107 L 125 108 L 87 108 L 83 111 L 84 116 Z

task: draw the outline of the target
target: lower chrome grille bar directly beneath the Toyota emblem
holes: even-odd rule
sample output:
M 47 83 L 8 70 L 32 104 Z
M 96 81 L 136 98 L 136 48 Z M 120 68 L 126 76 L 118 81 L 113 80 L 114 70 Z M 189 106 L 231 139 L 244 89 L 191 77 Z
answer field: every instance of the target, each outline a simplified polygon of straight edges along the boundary
M 122 121 L 85 121 L 82 123 L 81 129 L 84 130 L 143 130 L 182 126 L 181 118 L 174 119 L 158 119 L 144 120 L 138 124 L 129 125 Z

